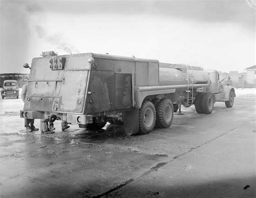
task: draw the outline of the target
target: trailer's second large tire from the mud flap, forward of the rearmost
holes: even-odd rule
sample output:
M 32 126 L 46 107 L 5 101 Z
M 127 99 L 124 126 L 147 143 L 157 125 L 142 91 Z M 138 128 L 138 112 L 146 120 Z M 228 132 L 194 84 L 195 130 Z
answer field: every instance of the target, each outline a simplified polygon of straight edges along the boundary
M 157 105 L 157 125 L 160 128 L 169 128 L 173 121 L 173 105 L 170 99 L 164 98 Z

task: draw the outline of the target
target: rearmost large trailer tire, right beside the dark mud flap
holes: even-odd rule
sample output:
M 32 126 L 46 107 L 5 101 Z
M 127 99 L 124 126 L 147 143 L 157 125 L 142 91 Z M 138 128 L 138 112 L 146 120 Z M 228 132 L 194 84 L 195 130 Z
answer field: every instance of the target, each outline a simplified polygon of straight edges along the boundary
M 139 132 L 150 133 L 156 123 L 156 109 L 151 101 L 144 101 L 139 109 Z

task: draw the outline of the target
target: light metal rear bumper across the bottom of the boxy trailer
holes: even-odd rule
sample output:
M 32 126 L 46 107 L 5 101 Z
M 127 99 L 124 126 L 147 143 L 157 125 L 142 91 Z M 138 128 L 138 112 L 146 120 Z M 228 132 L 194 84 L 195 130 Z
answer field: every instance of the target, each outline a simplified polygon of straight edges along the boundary
M 20 111 L 21 118 L 28 119 L 48 119 L 49 116 L 52 115 L 51 112 L 43 112 L 43 111 Z M 80 114 L 63 114 L 58 113 L 54 114 L 57 116 L 58 120 L 66 121 L 68 123 L 75 124 L 89 124 L 92 123 L 92 115 L 80 115 Z

